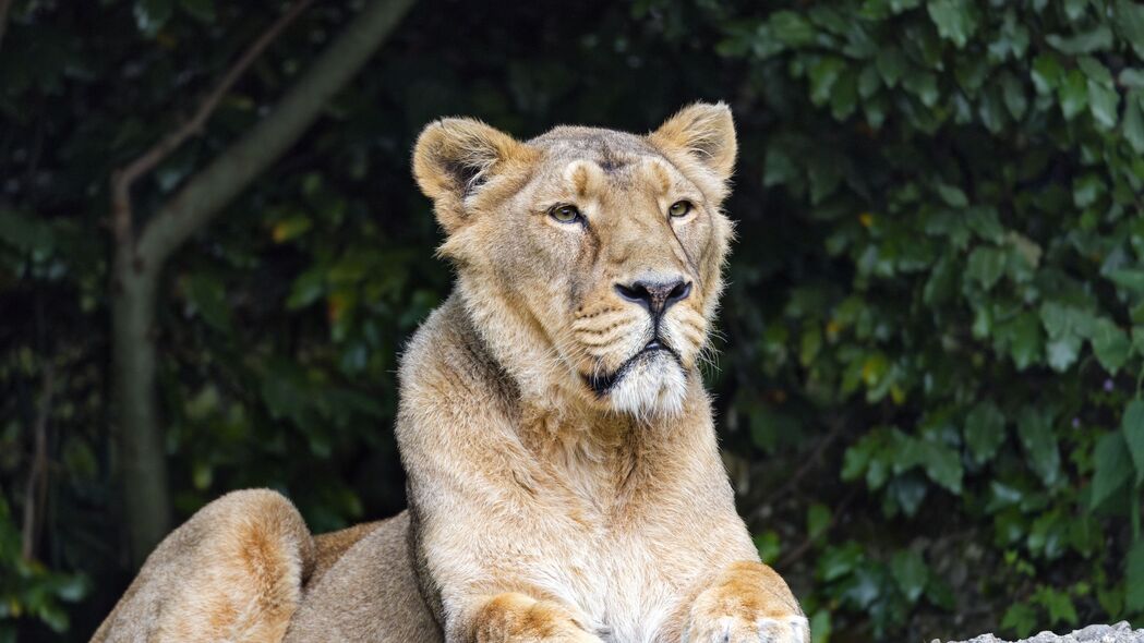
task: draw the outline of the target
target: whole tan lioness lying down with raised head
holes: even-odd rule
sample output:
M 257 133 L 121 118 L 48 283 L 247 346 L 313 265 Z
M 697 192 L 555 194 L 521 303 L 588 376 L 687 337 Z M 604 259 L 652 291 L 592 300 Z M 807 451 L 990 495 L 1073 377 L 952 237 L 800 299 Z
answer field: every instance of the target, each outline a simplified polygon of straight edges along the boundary
M 428 126 L 413 168 L 456 288 L 403 357 L 410 510 L 311 540 L 285 499 L 229 495 L 96 640 L 809 641 L 697 370 L 734 158 L 723 104 L 646 136 Z

